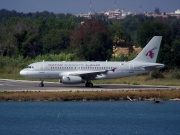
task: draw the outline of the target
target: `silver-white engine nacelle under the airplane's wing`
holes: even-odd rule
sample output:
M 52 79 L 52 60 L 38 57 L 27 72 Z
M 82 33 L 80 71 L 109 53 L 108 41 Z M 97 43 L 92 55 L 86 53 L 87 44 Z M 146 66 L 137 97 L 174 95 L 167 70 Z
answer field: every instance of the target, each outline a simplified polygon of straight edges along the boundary
M 61 82 L 63 84 L 79 84 L 82 82 L 82 78 L 79 76 L 63 76 Z

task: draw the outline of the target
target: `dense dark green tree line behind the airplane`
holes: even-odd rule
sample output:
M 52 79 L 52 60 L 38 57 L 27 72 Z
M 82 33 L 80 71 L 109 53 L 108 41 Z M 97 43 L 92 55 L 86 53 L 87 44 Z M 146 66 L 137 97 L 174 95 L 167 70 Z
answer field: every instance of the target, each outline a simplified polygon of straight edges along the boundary
M 0 58 L 34 59 L 39 55 L 71 53 L 76 60 L 111 60 L 113 46 L 144 47 L 163 36 L 158 62 L 180 68 L 180 19 L 144 15 L 108 20 L 48 11 L 18 13 L 0 10 Z

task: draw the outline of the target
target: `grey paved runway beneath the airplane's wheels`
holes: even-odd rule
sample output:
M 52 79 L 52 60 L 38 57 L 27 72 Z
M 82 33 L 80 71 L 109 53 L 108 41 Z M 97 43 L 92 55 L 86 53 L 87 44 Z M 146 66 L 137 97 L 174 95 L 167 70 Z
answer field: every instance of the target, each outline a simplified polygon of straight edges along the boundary
M 7 91 L 120 91 L 120 90 L 169 90 L 179 88 L 174 86 L 153 85 L 126 85 L 126 84 L 94 84 L 93 88 L 87 88 L 84 84 L 64 85 L 57 82 L 44 82 L 44 87 L 39 87 L 40 81 L 22 81 L 0 79 L 0 92 Z

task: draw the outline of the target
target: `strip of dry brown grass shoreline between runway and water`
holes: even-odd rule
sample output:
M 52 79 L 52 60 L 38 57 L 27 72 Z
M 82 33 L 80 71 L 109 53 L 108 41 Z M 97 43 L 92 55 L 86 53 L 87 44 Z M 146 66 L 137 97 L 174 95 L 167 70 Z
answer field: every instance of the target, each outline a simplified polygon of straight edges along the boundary
M 0 102 L 153 101 L 156 99 L 180 101 L 180 90 L 0 92 Z

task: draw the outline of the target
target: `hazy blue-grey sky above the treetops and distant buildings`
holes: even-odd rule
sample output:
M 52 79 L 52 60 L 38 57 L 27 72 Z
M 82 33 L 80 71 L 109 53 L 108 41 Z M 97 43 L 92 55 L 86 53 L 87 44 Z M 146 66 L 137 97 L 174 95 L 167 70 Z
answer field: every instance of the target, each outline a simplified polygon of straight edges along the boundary
M 88 13 L 109 11 L 115 9 L 115 0 L 0 0 L 0 9 L 15 10 L 17 12 L 54 13 Z M 153 12 L 159 8 L 160 12 L 174 12 L 180 9 L 180 0 L 116 0 L 116 8 L 140 12 Z

